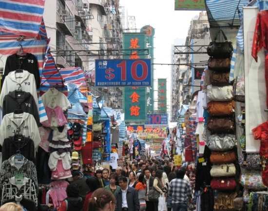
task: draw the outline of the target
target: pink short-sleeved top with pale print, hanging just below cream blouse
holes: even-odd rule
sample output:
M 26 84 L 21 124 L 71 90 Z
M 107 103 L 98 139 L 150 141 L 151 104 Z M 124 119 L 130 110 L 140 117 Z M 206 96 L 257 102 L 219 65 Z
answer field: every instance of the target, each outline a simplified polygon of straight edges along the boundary
M 54 109 L 45 107 L 48 120 L 42 122 L 45 127 L 58 127 L 67 124 L 65 115 L 63 114 L 62 108 L 56 106 Z

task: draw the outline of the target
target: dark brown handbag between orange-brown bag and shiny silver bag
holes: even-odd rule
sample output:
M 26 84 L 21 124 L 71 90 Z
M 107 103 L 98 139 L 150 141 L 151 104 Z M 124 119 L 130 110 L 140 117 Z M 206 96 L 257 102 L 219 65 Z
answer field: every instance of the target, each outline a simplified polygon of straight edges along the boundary
M 213 134 L 233 134 L 234 122 L 230 118 L 209 118 L 208 129 Z

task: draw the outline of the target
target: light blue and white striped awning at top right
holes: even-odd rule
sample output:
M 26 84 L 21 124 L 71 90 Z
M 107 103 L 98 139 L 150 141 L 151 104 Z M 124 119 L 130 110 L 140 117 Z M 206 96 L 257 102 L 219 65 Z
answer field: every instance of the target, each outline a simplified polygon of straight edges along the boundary
M 205 0 L 211 28 L 240 26 L 238 9 L 249 0 Z

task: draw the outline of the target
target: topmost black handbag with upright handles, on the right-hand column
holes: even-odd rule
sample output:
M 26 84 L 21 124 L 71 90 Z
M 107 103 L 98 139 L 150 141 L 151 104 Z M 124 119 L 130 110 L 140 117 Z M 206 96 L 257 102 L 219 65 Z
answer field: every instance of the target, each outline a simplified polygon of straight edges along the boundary
M 225 42 L 216 42 L 220 32 L 222 33 Z M 224 32 L 220 30 L 214 41 L 211 41 L 211 43 L 209 44 L 207 52 L 208 55 L 213 58 L 230 58 L 233 52 L 232 42 L 228 41 Z

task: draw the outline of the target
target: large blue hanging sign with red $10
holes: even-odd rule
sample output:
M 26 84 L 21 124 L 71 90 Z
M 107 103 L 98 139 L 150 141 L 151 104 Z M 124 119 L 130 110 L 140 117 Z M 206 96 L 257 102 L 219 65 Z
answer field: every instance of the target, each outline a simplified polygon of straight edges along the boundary
M 95 86 L 151 86 L 151 59 L 97 59 Z

